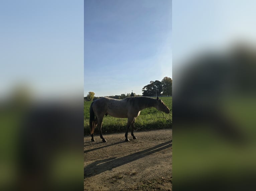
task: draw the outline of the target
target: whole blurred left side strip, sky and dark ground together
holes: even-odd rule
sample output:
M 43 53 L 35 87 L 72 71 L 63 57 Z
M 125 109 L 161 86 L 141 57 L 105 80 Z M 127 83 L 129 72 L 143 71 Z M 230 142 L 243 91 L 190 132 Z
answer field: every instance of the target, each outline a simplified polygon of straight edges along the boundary
M 83 16 L 0 2 L 0 190 L 83 190 Z

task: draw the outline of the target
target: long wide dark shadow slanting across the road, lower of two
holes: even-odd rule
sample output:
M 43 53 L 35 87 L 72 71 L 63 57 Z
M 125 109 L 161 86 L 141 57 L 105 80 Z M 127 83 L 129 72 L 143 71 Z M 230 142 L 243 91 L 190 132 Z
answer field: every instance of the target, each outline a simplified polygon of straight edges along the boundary
M 146 155 L 159 152 L 171 146 L 172 146 L 172 140 L 158 144 L 156 146 L 150 147 L 142 151 L 138 151 L 128 156 L 126 155 L 120 158 L 111 157 L 111 158 L 106 158 L 102 160 L 97 160 L 84 167 L 84 178 L 91 177 L 105 171 L 111 171 L 113 168 L 138 160 L 140 158 L 143 158 Z

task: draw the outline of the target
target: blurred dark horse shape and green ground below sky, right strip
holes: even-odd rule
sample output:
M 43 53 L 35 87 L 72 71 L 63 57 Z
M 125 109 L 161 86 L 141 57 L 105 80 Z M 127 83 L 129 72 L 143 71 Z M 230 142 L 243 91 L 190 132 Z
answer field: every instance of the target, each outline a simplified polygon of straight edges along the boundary
M 204 50 L 181 66 L 173 78 L 173 190 L 254 190 L 256 48 Z

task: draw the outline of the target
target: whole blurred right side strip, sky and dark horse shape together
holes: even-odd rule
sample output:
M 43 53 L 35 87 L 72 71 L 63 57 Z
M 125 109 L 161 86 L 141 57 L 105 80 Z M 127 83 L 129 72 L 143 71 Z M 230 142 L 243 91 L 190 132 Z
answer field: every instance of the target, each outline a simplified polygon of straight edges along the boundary
M 173 190 L 254 190 L 255 1 L 173 1 Z

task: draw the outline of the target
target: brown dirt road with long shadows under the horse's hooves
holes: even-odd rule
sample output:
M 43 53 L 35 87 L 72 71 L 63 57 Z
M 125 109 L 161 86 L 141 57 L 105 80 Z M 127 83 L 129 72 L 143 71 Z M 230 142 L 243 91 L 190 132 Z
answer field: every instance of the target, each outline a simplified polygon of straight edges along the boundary
M 84 137 L 84 190 L 172 190 L 172 130 Z

